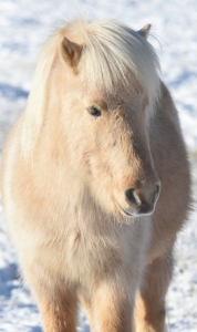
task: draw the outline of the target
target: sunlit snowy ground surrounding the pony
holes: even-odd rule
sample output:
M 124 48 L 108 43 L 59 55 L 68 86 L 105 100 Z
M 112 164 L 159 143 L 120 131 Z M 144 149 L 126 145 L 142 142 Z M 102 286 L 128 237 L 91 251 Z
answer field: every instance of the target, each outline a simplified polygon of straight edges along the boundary
M 149 41 L 178 107 L 197 200 L 196 0 L 0 0 L 0 155 L 8 131 L 25 105 L 40 46 L 55 27 L 79 13 L 116 18 L 136 30 L 152 23 Z M 175 273 L 167 295 L 167 323 L 173 332 L 197 332 L 196 222 L 194 211 L 176 245 Z M 18 279 L 17 262 L 0 205 L 0 332 L 41 332 L 34 300 Z M 83 312 L 79 331 L 89 331 Z

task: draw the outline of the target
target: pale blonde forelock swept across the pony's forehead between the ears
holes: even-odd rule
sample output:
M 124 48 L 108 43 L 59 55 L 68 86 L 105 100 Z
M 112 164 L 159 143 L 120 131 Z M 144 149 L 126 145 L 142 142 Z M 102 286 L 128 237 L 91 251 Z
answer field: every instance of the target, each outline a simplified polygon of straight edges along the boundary
M 126 87 L 132 72 L 151 100 L 158 95 L 158 58 L 138 32 L 115 20 L 79 20 L 69 29 L 84 40 L 80 66 L 91 86 L 112 91 L 121 81 Z

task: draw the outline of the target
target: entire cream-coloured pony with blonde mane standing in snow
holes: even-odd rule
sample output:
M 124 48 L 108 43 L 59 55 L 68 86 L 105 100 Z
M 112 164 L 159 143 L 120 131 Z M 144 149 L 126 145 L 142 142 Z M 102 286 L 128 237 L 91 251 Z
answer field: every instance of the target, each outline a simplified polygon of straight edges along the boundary
M 116 21 L 69 22 L 44 44 L 2 160 L 21 274 L 46 332 L 164 332 L 190 176 L 177 111 L 147 42 Z

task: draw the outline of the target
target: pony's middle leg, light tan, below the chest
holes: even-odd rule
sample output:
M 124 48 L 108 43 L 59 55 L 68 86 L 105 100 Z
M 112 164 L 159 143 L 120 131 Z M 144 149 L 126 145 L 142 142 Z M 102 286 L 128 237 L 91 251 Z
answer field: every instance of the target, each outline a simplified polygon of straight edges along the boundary
M 121 284 L 100 284 L 92 298 L 92 332 L 133 332 L 134 299 Z M 90 314 L 90 312 L 89 312 Z

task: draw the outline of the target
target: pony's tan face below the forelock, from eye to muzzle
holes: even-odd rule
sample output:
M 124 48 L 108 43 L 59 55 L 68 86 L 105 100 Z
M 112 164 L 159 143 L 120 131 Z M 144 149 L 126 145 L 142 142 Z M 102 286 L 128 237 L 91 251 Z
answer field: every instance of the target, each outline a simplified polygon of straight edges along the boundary
M 149 149 L 147 95 L 132 86 L 129 93 L 74 95 L 68 97 L 63 122 L 76 176 L 104 211 L 116 217 L 152 214 L 159 180 Z

